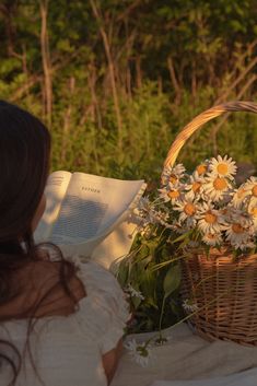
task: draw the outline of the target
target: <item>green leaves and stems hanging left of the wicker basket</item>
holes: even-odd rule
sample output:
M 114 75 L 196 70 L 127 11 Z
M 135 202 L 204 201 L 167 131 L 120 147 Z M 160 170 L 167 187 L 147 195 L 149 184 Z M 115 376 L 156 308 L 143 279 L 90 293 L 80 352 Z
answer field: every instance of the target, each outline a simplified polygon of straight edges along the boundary
M 128 293 L 133 316 L 128 332 L 157 331 L 182 318 L 180 265 L 166 241 L 167 232 L 161 227 L 149 238 L 139 234 L 118 266 L 117 279 Z

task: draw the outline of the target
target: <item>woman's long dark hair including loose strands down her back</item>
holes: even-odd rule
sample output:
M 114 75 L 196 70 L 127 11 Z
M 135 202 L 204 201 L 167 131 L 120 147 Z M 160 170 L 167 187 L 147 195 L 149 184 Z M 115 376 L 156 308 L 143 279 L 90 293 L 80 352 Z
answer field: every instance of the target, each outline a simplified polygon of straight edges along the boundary
M 50 134 L 43 122 L 22 108 L 0 101 L 0 306 L 16 296 L 11 284 L 13 272 L 39 258 L 32 222 L 46 186 L 49 154 Z M 72 297 L 66 280 L 71 270 L 67 267 L 70 265 L 62 260 L 59 282 Z M 1 321 L 4 317 L 0 314 Z M 21 356 L 11 342 L 0 339 L 0 361 L 11 365 L 11 384 L 14 384 Z M 14 356 L 20 358 L 16 363 L 7 355 L 10 347 Z

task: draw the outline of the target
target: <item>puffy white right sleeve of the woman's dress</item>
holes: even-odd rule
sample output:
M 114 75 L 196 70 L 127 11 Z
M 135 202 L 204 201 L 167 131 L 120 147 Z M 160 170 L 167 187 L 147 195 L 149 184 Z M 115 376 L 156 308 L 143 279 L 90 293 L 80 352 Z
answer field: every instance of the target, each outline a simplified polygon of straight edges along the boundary
M 86 292 L 74 318 L 80 331 L 84 335 L 90 331 L 101 353 L 105 354 L 117 346 L 130 317 L 125 293 L 114 274 L 96 262 L 82 262 L 80 257 L 71 261 Z

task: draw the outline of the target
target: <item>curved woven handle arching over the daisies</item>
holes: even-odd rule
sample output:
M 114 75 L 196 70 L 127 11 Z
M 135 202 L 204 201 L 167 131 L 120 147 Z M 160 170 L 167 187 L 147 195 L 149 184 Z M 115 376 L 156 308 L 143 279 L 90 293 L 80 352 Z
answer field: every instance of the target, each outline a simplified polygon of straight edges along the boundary
M 209 120 L 227 112 L 250 112 L 257 114 L 257 103 L 244 101 L 227 102 L 218 106 L 213 106 L 196 116 L 196 118 L 186 125 L 175 138 L 175 141 L 170 148 L 166 160 L 164 161 L 163 168 L 173 166 L 175 164 L 180 149 L 197 129 L 200 129 Z

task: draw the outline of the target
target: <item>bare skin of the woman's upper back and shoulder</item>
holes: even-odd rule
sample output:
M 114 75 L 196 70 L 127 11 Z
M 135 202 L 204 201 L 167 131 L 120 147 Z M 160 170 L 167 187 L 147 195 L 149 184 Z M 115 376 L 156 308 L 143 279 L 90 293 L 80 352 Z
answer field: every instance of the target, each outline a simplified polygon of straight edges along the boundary
M 81 281 L 70 274 L 67 282 L 72 299 L 59 281 L 61 261 L 32 260 L 15 269 L 10 276 L 10 286 L 15 296 L 0 305 L 1 319 L 69 315 L 75 303 L 86 296 Z M 73 273 L 73 272 L 72 272 Z M 34 308 L 38 304 L 37 308 Z

